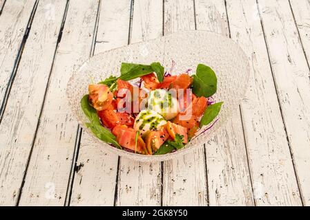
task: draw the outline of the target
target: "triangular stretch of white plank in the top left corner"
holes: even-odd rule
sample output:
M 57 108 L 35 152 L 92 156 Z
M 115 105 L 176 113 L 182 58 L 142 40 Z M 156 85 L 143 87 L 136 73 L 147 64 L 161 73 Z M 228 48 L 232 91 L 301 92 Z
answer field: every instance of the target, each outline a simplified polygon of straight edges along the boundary
M 35 0 L 7 1 L 0 17 L 0 105 L 26 33 Z M 0 112 L 1 113 L 1 112 Z

